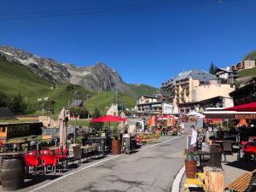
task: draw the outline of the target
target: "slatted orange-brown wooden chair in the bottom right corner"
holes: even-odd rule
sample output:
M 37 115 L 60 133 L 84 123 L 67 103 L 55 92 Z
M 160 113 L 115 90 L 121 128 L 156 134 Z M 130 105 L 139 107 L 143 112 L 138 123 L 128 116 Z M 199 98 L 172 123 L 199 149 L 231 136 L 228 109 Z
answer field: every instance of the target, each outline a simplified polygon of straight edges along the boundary
M 241 177 L 236 178 L 235 181 L 230 183 L 226 189 L 231 192 L 250 192 L 253 188 L 253 183 L 256 181 L 256 170 L 253 172 L 246 172 Z

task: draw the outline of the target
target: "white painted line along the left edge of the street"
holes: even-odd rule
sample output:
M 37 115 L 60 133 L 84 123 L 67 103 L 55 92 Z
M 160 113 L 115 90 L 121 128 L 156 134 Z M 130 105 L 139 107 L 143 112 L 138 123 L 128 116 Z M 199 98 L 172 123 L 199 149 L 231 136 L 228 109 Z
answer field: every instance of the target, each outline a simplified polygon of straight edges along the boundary
M 141 148 L 140 150 L 147 149 L 147 148 L 152 148 L 152 147 L 157 146 L 157 145 L 160 145 L 160 144 L 162 144 L 162 143 L 171 142 L 172 140 L 177 139 L 177 138 L 178 138 L 178 137 L 174 137 L 174 138 L 172 138 L 172 139 L 166 140 L 165 142 L 155 143 L 155 144 L 153 144 L 153 145 L 150 145 L 150 146 L 146 146 L 146 147 L 144 147 L 144 148 Z M 88 168 L 90 168 L 90 167 L 92 167 L 92 166 L 99 165 L 99 164 L 104 163 L 104 162 L 106 162 L 106 161 L 119 158 L 120 156 L 123 156 L 123 155 L 124 155 L 124 154 L 119 154 L 119 155 L 116 155 L 116 156 L 114 156 L 114 157 L 108 158 L 108 159 L 106 159 L 106 160 L 101 160 L 101 161 L 99 161 L 99 162 L 96 162 L 96 163 L 94 163 L 94 164 L 91 164 L 90 166 L 84 166 L 83 168 L 81 168 L 81 169 L 79 169 L 79 170 L 76 170 L 76 171 L 74 171 L 74 172 L 69 172 L 69 173 L 67 173 L 67 175 L 63 175 L 63 176 L 61 176 L 61 177 L 55 178 L 54 180 L 50 181 L 49 183 L 45 183 L 44 185 L 41 185 L 41 186 L 39 186 L 38 188 L 32 189 L 32 190 L 30 190 L 30 192 L 38 191 L 39 189 L 43 189 L 43 188 L 49 186 L 49 185 L 52 184 L 52 183 L 55 183 L 55 182 L 57 182 L 57 181 L 60 181 L 61 179 L 65 178 L 65 177 L 71 176 L 71 175 L 73 175 L 73 174 L 75 174 L 75 173 L 77 173 L 77 172 L 82 172 L 82 171 L 84 171 L 85 169 L 88 169 Z

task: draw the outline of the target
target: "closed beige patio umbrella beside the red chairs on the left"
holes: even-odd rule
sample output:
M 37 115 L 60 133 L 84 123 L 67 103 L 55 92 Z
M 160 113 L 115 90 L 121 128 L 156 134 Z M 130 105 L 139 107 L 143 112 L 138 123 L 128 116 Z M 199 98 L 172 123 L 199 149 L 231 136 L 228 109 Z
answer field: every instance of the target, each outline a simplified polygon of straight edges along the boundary
M 58 117 L 58 123 L 60 127 L 60 146 L 66 148 L 67 146 L 67 110 L 64 108 Z

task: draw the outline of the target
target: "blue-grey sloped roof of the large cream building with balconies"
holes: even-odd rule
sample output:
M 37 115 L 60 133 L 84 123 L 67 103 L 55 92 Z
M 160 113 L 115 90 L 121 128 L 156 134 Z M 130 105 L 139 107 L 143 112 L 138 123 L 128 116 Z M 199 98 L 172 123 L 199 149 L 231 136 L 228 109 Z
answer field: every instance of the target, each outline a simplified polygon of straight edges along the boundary
M 203 82 L 209 82 L 210 80 L 218 80 L 216 76 L 200 69 L 191 69 L 189 71 L 179 73 L 175 80 L 180 81 L 183 79 L 195 79 Z

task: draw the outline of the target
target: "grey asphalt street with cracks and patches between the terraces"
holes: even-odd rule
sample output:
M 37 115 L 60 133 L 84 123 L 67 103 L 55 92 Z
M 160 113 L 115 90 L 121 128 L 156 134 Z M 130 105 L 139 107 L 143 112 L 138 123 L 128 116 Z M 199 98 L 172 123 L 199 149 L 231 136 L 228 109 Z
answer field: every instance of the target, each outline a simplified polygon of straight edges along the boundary
M 84 163 L 64 177 L 46 179 L 20 191 L 171 191 L 183 166 L 185 136 L 161 137 L 161 142 L 146 145 L 135 154 L 108 155 L 95 166 L 102 160 Z

